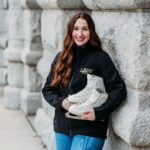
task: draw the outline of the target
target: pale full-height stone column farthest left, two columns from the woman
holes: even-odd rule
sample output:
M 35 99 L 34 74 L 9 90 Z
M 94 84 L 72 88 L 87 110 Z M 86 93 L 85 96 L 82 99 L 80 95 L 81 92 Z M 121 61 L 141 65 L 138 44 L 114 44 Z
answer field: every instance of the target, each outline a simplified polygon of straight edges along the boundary
M 23 87 L 23 11 L 20 0 L 9 1 L 9 41 L 5 50 L 5 59 L 8 61 L 8 86 L 4 88 L 4 105 L 7 108 L 20 108 L 20 93 Z

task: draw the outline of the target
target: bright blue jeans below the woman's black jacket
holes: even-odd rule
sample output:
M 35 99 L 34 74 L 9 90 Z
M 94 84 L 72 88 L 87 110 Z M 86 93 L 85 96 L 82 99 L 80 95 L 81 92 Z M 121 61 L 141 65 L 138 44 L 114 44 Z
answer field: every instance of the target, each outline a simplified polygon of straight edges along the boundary
M 56 133 L 56 150 L 102 150 L 105 139 Z

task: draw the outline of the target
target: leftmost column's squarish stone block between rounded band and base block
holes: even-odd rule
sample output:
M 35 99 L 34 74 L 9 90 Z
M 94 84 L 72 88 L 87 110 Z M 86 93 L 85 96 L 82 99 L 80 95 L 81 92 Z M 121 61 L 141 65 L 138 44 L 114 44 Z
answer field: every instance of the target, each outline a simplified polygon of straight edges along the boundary
M 13 87 L 23 87 L 24 66 L 22 63 L 8 63 L 8 84 Z

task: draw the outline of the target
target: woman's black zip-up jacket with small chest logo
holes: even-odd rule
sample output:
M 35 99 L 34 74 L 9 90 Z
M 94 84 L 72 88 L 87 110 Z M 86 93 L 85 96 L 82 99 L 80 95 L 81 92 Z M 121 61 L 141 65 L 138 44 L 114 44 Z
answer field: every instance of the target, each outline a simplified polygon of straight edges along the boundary
M 51 71 L 42 89 L 45 100 L 55 107 L 54 131 L 72 135 L 80 134 L 106 138 L 108 117 L 126 98 L 125 84 L 106 52 L 95 49 L 90 44 L 87 44 L 84 48 L 74 47 L 74 52 L 73 71 L 68 86 L 63 88 L 50 86 L 53 78 L 53 68 L 59 56 L 58 53 L 51 65 Z M 95 121 L 66 118 L 66 110 L 61 107 L 62 101 L 68 94 L 77 93 L 86 86 L 87 75 L 80 72 L 84 68 L 92 69 L 91 74 L 103 78 L 108 93 L 107 101 L 100 107 L 94 108 Z

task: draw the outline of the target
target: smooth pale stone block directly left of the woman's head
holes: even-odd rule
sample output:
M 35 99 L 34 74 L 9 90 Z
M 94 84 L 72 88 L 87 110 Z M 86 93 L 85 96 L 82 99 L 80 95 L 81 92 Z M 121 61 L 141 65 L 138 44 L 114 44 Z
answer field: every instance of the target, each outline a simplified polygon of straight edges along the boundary
M 43 12 L 41 21 L 44 49 L 62 50 L 67 23 L 74 13 L 77 11 L 45 10 Z

